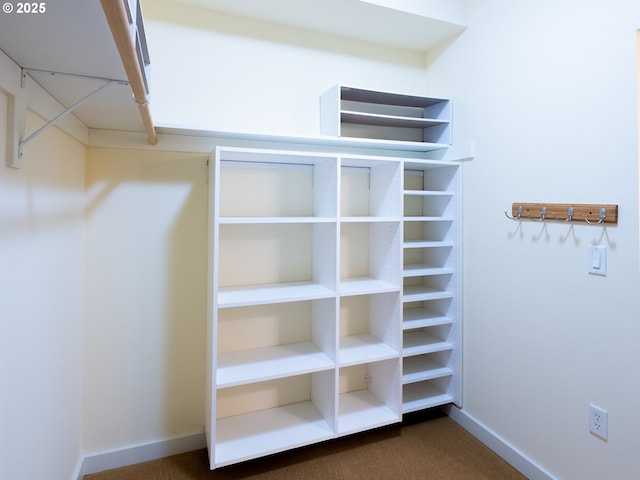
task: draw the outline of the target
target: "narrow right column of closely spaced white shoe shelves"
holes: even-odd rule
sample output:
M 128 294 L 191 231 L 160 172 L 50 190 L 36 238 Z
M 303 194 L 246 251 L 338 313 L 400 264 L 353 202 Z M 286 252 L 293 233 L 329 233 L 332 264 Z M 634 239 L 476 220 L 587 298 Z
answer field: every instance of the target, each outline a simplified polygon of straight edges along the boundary
M 404 162 L 403 413 L 461 403 L 459 164 Z

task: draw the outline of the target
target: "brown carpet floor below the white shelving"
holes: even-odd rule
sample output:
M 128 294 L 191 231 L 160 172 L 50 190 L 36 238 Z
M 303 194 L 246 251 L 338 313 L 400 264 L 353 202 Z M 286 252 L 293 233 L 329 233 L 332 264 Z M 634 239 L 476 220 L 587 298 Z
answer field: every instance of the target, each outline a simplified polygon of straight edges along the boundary
M 209 470 L 206 450 L 86 475 L 85 480 L 523 480 L 449 417 L 407 417 L 363 432 Z

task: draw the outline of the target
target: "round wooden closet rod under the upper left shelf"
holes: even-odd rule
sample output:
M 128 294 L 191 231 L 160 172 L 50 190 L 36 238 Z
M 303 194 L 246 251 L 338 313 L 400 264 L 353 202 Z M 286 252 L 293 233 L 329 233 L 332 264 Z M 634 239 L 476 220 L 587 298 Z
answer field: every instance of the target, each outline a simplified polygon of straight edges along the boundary
M 100 3 L 107 18 L 107 23 L 109 23 L 113 39 L 116 42 L 122 65 L 129 79 L 129 85 L 131 85 L 131 90 L 133 91 L 133 98 L 138 104 L 142 123 L 147 132 L 147 140 L 151 145 L 155 145 L 158 143 L 158 137 L 151 118 L 149 97 L 147 96 L 142 70 L 138 62 L 136 46 L 131 36 L 126 6 L 123 0 L 100 0 Z

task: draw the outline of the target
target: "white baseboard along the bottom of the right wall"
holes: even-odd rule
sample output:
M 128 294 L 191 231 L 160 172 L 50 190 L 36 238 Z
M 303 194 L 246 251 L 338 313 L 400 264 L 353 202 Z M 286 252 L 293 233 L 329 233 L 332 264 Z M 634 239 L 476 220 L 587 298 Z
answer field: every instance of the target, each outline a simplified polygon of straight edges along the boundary
M 457 407 L 450 407 L 450 409 L 447 410 L 447 414 L 453 421 L 484 443 L 529 480 L 556 480 L 556 477 L 551 475 L 551 473 L 541 465 L 534 462 L 522 451 L 518 450 L 464 410 Z

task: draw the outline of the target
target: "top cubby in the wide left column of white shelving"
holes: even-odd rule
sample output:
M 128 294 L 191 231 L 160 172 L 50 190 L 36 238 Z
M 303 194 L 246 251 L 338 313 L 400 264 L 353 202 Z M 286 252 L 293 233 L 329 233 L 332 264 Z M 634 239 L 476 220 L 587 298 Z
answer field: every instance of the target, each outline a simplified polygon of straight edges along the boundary
M 221 221 L 337 215 L 337 158 L 219 147 L 216 192 Z

